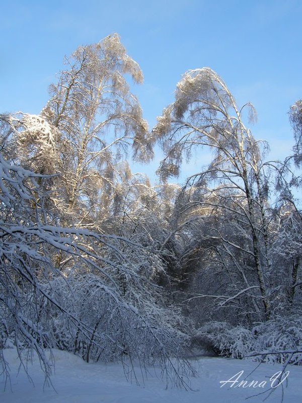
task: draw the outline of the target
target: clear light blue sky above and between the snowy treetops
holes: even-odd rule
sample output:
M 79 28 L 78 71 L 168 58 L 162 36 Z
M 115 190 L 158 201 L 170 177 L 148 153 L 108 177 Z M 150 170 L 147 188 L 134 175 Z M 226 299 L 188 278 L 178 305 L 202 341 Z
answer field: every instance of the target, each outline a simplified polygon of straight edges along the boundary
M 150 126 L 181 75 L 209 66 L 239 104 L 255 105 L 254 136 L 269 142 L 271 159 L 283 159 L 293 144 L 288 109 L 302 98 L 301 22 L 300 0 L 2 2 L 0 113 L 39 113 L 64 55 L 118 32 L 143 71 L 134 92 Z M 160 158 L 133 169 L 153 177 Z M 182 177 L 207 158 L 184 166 Z

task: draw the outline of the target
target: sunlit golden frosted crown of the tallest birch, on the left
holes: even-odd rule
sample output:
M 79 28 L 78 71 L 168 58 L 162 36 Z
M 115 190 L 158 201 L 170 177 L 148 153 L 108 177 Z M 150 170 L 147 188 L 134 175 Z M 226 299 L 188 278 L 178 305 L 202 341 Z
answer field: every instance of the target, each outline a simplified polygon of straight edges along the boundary
M 41 115 L 20 116 L 17 145 L 30 169 L 58 173 L 57 205 L 84 224 L 83 217 L 89 222 L 89 217 L 110 213 L 127 154 L 145 161 L 152 149 L 141 107 L 127 83 L 130 77 L 140 84 L 142 72 L 117 34 L 80 46 L 65 65 Z

